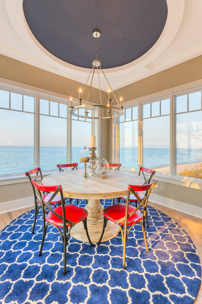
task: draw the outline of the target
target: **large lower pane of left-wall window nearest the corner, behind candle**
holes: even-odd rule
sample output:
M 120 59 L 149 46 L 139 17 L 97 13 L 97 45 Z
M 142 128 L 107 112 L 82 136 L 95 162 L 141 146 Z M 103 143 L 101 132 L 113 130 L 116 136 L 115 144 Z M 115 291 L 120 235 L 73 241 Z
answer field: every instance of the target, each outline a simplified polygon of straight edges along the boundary
M 72 120 L 72 163 L 77 162 L 78 167 L 84 168 L 80 162 L 80 150 L 89 147 L 92 124 L 85 121 Z M 97 153 L 97 151 L 95 151 Z M 87 167 L 87 172 L 89 169 Z

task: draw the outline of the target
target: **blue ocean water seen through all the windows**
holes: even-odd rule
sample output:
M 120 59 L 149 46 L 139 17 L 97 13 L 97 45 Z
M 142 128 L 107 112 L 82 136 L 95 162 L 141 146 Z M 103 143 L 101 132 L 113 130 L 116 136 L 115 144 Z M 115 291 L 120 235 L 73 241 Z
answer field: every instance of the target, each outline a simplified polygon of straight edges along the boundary
M 72 147 L 72 163 L 80 163 L 80 150 Z M 202 161 L 199 149 L 177 149 L 177 164 Z M 144 148 L 143 165 L 154 168 L 169 165 L 170 149 Z M 108 160 L 107 160 L 108 161 Z M 120 148 L 120 162 L 124 167 L 137 168 L 137 148 Z M 56 169 L 57 164 L 66 163 L 66 147 L 40 147 L 40 167 L 42 170 Z M 21 173 L 34 168 L 33 146 L 0 146 L 0 174 Z

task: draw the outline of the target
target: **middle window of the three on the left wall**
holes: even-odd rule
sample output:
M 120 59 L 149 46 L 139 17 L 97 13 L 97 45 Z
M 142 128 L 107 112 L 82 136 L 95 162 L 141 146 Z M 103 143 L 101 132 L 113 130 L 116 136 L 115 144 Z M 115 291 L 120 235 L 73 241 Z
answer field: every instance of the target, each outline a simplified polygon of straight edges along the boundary
M 40 99 L 40 167 L 67 163 L 67 105 Z

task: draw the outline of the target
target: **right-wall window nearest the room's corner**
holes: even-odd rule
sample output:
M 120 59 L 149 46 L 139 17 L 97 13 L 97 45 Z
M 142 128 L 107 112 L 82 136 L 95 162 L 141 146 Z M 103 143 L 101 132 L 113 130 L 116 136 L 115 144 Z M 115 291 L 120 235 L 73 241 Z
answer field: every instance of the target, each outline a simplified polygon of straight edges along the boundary
M 123 167 L 137 168 L 137 113 L 138 107 L 125 109 L 120 116 L 120 150 L 119 161 Z

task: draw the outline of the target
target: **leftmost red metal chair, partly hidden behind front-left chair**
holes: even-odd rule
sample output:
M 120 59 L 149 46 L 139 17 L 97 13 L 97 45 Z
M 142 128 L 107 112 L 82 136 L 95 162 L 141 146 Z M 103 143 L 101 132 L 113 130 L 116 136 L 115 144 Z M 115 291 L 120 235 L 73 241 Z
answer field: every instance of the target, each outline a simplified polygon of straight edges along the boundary
M 39 201 L 39 199 L 37 198 L 37 195 L 36 195 L 36 191 L 35 191 L 35 188 L 32 184 L 32 177 L 31 175 L 36 173 L 35 175 L 35 180 L 37 180 L 37 177 L 38 177 L 38 174 L 40 175 L 40 180 L 42 181 L 43 180 L 43 175 L 41 173 L 41 168 L 35 168 L 35 169 L 32 169 L 32 170 L 29 170 L 27 172 L 24 172 L 25 175 L 27 176 L 28 180 L 30 181 L 31 185 L 32 185 L 32 190 L 34 192 L 34 205 L 35 205 L 35 216 L 34 216 L 34 224 L 33 224 L 33 228 L 32 228 L 32 234 L 34 233 L 34 229 L 35 229 L 35 225 L 36 225 L 36 216 L 39 214 L 39 209 L 41 208 L 41 202 Z M 50 193 L 43 193 L 43 199 L 47 202 L 50 198 Z M 61 204 L 61 198 L 59 195 L 55 196 L 54 200 L 52 202 L 50 202 L 51 205 L 53 205 L 54 207 L 56 207 L 55 204 L 58 204 L 58 206 Z

